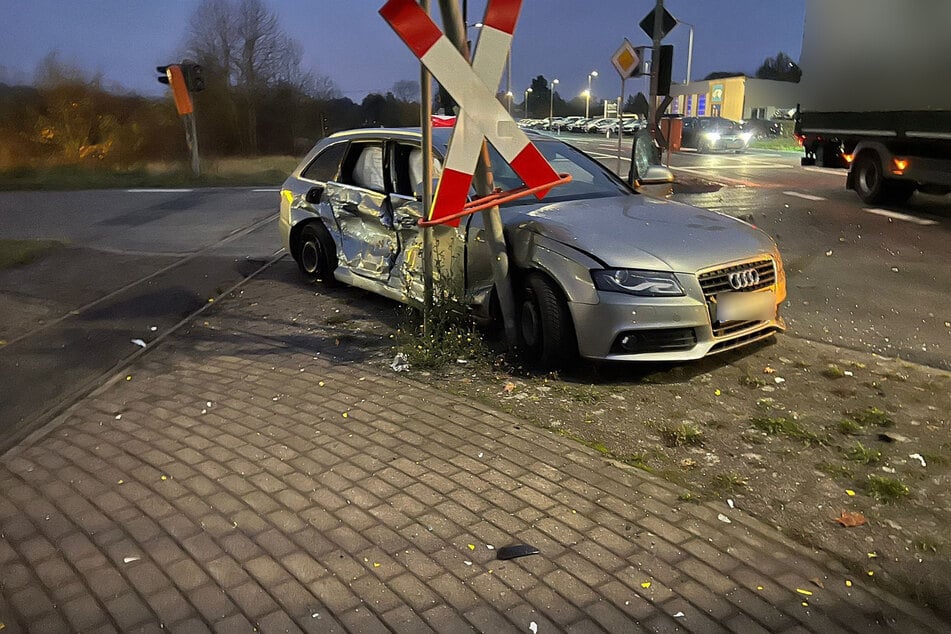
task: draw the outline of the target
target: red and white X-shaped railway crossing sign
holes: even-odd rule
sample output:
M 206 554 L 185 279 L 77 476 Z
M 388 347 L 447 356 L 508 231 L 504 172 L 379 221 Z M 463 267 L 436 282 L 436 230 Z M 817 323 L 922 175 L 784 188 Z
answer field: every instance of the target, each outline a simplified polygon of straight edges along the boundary
M 508 110 L 495 98 L 522 0 L 489 0 L 472 64 L 416 0 L 388 0 L 380 15 L 459 104 L 459 114 L 428 222 L 458 215 L 466 205 L 484 139 L 535 195 L 561 179 Z M 451 221 L 458 223 L 458 218 Z

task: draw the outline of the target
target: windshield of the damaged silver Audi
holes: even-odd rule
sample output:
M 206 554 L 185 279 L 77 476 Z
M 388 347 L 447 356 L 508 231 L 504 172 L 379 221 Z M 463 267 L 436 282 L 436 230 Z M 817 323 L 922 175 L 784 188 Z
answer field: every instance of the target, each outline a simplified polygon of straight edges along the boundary
M 613 174 L 570 145 L 554 140 L 539 140 L 534 143 L 556 172 L 571 174 L 571 182 L 555 187 L 545 196 L 544 201 L 546 203 L 623 196 L 631 193 L 624 183 Z M 492 173 L 496 187 L 508 191 L 524 186 L 518 174 L 512 170 L 511 166 L 502 159 L 491 145 L 489 146 L 489 156 L 492 160 Z M 536 204 L 537 201 L 538 199 L 534 196 L 526 196 L 502 206 L 530 205 Z

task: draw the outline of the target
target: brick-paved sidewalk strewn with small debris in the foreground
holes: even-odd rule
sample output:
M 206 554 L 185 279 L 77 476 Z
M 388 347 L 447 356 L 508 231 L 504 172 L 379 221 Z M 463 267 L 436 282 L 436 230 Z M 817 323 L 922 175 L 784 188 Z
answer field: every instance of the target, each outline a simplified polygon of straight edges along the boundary
M 321 301 L 253 281 L 0 461 L 4 634 L 947 631 L 741 510 L 331 358 Z

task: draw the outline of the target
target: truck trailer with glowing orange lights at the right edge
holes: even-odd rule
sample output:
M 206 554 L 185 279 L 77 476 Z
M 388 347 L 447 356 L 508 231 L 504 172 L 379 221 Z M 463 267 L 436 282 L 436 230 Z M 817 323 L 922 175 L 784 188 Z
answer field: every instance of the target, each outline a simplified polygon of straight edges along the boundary
M 951 191 L 951 0 L 806 0 L 803 165 L 867 203 Z

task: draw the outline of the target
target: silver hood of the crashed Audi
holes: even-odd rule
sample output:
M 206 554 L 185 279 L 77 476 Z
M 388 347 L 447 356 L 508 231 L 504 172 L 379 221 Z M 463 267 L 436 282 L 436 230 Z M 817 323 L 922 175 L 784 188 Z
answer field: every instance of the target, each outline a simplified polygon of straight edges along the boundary
M 745 222 L 641 195 L 507 211 L 516 212 L 506 214 L 510 231 L 537 233 L 583 251 L 607 267 L 693 273 L 775 250 L 769 236 Z

